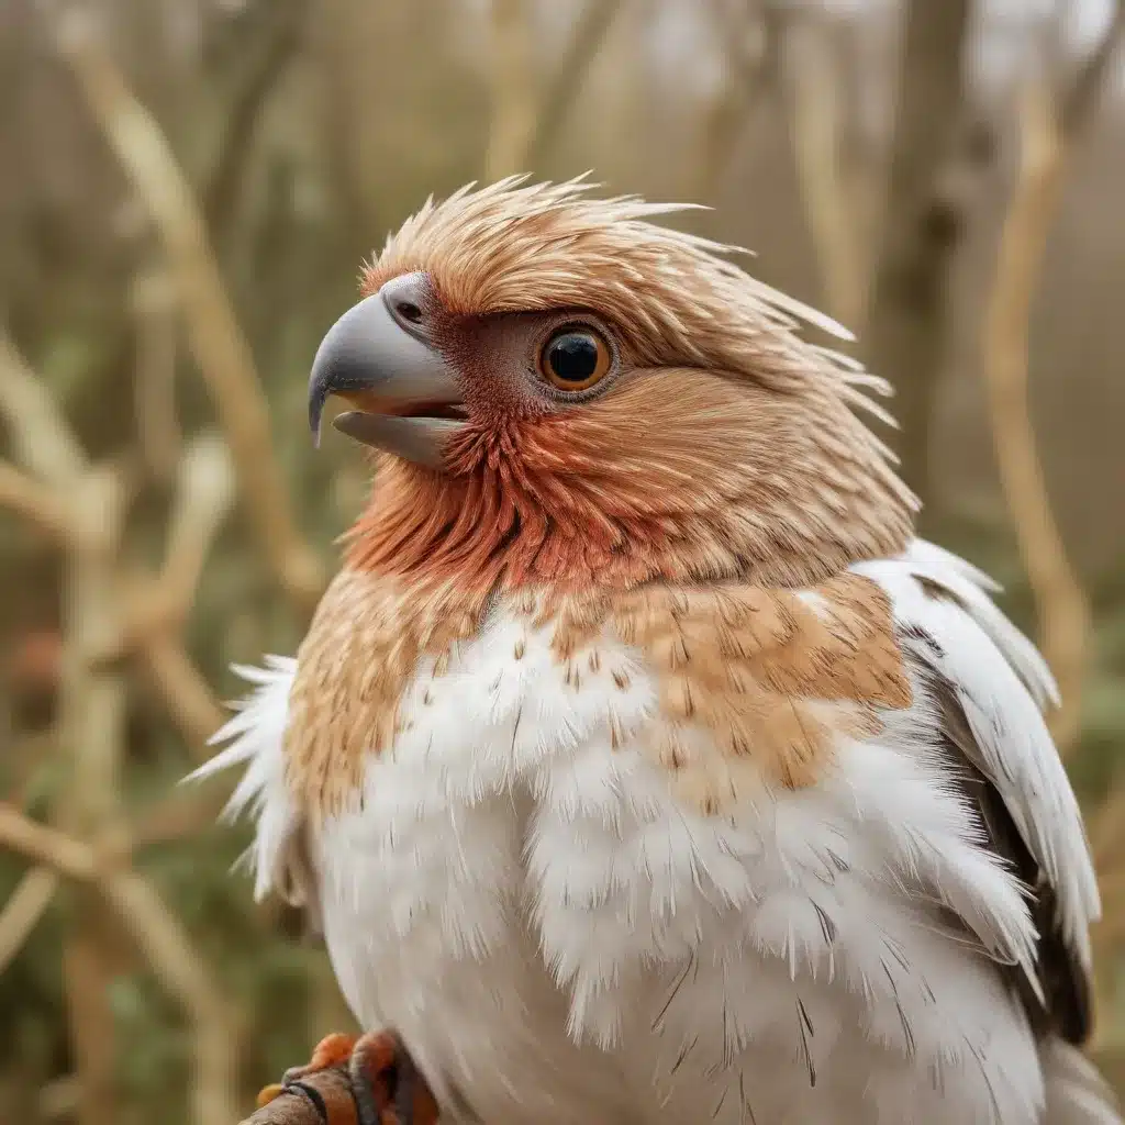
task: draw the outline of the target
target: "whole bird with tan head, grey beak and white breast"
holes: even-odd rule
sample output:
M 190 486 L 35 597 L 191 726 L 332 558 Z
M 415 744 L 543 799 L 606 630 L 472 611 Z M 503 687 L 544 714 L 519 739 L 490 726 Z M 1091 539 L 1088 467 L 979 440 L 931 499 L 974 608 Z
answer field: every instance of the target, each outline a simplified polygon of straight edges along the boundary
M 682 209 L 507 178 L 364 264 L 308 412 L 369 498 L 200 772 L 254 891 L 443 1123 L 1120 1122 L 1051 674 Z

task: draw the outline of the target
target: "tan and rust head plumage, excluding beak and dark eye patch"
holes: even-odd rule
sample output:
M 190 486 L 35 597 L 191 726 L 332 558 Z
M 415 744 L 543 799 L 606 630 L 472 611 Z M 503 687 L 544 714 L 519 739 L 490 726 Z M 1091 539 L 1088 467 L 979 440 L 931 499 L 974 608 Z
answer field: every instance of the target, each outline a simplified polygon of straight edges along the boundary
M 428 201 L 364 270 L 366 292 L 424 272 L 457 323 L 592 310 L 637 377 L 549 417 L 485 396 L 456 470 L 384 470 L 356 564 L 469 566 L 475 542 L 488 583 L 793 584 L 901 549 L 914 497 L 856 415 L 885 418 L 874 396 L 886 385 L 798 331 L 844 330 L 750 278 L 724 256 L 732 248 L 650 222 L 682 207 L 591 187 L 464 188 Z M 451 348 L 471 363 L 471 344 Z M 443 505 L 461 515 L 452 526 L 418 514 Z

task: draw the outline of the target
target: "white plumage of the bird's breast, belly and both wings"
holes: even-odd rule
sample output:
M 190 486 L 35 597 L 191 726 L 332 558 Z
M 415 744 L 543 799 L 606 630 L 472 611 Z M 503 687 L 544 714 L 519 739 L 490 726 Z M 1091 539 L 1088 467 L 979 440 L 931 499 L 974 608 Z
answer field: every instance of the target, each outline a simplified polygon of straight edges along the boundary
M 1084 955 L 1097 891 L 1035 704 L 1053 693 L 1042 660 L 982 576 L 930 544 L 856 570 L 939 646 L 912 655 L 956 687 L 976 765 Z M 981 846 L 922 683 L 879 738 L 840 737 L 818 785 L 763 786 L 705 817 L 641 749 L 657 699 L 639 654 L 597 648 L 577 690 L 549 637 L 502 606 L 444 675 L 418 668 L 406 729 L 317 845 L 328 948 L 360 1018 L 398 1026 L 496 1125 L 1037 1122 L 1019 1001 L 939 909 L 1030 964 L 1024 889 Z M 245 763 L 231 809 L 256 817 L 263 893 L 300 826 L 280 749 L 294 664 L 245 674 L 256 692 L 200 774 Z

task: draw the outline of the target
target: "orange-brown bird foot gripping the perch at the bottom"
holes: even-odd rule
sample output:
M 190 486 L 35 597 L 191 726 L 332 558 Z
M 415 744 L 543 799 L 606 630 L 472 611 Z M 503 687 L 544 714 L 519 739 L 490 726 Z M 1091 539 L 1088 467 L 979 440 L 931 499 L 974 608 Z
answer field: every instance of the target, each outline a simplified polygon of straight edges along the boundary
M 324 1094 L 334 1095 L 341 1084 L 350 1097 L 338 1105 L 339 1098 Z M 308 1125 L 435 1125 L 438 1120 L 438 1104 L 425 1079 L 398 1035 L 388 1030 L 325 1036 L 308 1063 L 290 1066 L 280 1083 L 258 1095 L 259 1113 L 251 1120 L 261 1125 L 272 1120 L 266 1107 L 288 1092 L 303 1095 L 300 1101 L 315 1110 Z M 289 1119 L 277 1118 L 279 1125 Z M 299 1120 L 304 1125 L 305 1118 Z

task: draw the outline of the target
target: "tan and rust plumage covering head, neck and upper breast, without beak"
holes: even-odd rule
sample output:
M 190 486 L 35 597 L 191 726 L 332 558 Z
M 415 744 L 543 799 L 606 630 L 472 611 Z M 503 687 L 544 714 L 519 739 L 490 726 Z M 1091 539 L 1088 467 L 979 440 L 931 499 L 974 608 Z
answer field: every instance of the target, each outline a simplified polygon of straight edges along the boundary
M 462 189 L 363 272 L 368 295 L 425 279 L 426 339 L 467 420 L 439 468 L 381 460 L 302 647 L 287 741 L 310 807 L 357 792 L 416 669 L 433 662 L 436 695 L 494 597 L 554 636 L 576 691 L 604 670 L 603 633 L 640 652 L 663 713 L 648 749 L 708 811 L 744 771 L 810 783 L 830 726 L 870 734 L 909 704 L 885 596 L 843 574 L 912 533 L 914 497 L 856 414 L 880 414 L 885 385 L 803 339 L 802 322 L 845 333 L 730 248 L 650 222 L 681 208 L 590 189 Z M 614 377 L 543 394 L 544 332 L 586 318 Z M 688 727 L 711 732 L 703 757 Z

